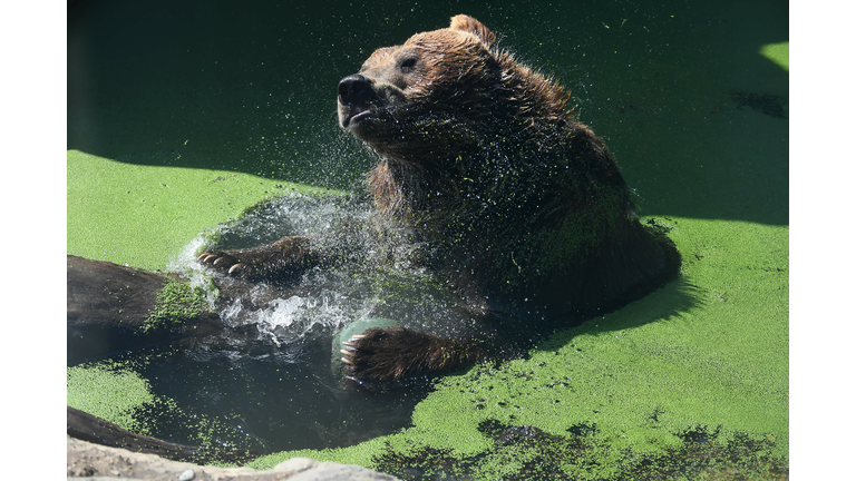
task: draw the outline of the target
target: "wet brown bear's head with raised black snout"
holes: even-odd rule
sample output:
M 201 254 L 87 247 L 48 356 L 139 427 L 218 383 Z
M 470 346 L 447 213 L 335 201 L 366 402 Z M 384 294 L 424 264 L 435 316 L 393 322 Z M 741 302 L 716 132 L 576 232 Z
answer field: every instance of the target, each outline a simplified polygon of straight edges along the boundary
M 436 161 L 504 127 L 564 118 L 568 95 L 495 43 L 494 32 L 459 14 L 449 28 L 378 49 L 339 82 L 340 125 L 381 155 Z

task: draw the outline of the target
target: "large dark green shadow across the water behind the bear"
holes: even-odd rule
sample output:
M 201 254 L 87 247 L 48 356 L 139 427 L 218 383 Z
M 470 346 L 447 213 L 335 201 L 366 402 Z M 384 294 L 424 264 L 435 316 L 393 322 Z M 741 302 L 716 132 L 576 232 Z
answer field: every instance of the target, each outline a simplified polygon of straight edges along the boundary
M 339 79 L 465 12 L 571 89 L 643 214 L 788 223 L 787 119 L 740 100 L 787 108 L 787 71 L 759 55 L 788 40 L 786 2 L 72 7 L 69 149 L 132 164 L 167 151 L 173 166 L 350 188 L 369 160 L 339 132 Z

